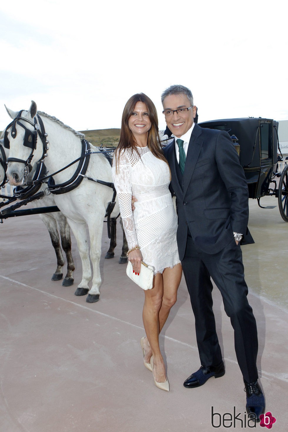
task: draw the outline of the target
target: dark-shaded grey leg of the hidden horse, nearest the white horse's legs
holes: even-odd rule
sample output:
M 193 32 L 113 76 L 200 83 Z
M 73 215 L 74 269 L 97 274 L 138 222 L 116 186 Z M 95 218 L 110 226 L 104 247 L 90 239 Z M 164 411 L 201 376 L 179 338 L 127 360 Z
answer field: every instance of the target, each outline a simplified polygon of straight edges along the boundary
M 64 216 L 62 213 L 57 215 L 57 222 L 60 232 L 61 245 L 67 260 L 67 273 L 63 279 L 62 285 L 71 286 L 74 283 L 73 271 L 75 270 L 75 264 L 71 252 L 70 226 L 68 225 L 66 216 Z

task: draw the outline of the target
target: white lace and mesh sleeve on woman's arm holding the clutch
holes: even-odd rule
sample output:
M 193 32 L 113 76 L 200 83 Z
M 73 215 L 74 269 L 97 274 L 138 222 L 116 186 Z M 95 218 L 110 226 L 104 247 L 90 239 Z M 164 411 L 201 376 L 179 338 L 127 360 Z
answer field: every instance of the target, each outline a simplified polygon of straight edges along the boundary
M 116 170 L 113 159 L 112 177 L 119 200 L 120 213 L 129 249 L 138 245 L 132 212 L 131 164 L 125 152 L 120 153 L 119 166 Z

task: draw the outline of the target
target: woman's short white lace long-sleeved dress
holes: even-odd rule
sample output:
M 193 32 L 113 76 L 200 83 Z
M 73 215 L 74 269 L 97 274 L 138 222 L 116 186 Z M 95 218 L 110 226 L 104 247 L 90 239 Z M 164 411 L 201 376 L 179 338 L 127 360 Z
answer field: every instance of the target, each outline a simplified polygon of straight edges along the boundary
M 180 263 L 177 242 L 177 214 L 169 191 L 167 163 L 156 158 L 149 148 L 128 148 L 115 158 L 112 176 L 120 204 L 129 249 L 139 245 L 143 261 L 162 273 Z M 137 198 L 132 212 L 132 194 Z

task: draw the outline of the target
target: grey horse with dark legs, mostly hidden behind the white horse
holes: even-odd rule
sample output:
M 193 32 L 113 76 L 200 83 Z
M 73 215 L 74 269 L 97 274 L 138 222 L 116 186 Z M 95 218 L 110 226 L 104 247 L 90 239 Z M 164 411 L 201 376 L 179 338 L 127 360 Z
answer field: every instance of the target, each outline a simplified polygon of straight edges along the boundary
M 0 140 L 0 186 L 5 181 L 6 177 L 6 159 L 9 157 L 9 149 L 6 149 L 3 146 L 3 140 Z M 28 176 L 28 180 L 34 178 L 34 174 L 36 171 L 37 165 L 35 165 Z M 40 184 L 39 184 L 40 186 Z M 47 188 L 46 184 L 42 184 L 40 189 L 37 191 L 42 191 Z M 24 191 L 27 187 L 24 186 Z M 34 188 L 35 189 L 35 188 Z M 32 192 L 33 193 L 33 192 Z M 9 197 L 7 196 L 7 199 Z M 44 195 L 40 200 L 34 201 L 35 207 L 49 207 L 55 206 L 55 200 L 53 195 Z M 67 223 L 66 217 L 61 212 L 53 212 L 53 213 L 41 213 L 39 214 L 40 218 L 44 222 L 46 226 L 50 238 L 51 243 L 54 247 L 54 251 L 57 258 L 57 268 L 53 273 L 52 280 L 61 280 L 63 278 L 63 266 L 65 264 L 63 259 L 63 254 L 61 250 L 61 245 L 63 251 L 66 255 L 67 260 L 67 273 L 65 278 L 63 279 L 63 286 L 71 286 L 73 285 L 73 271 L 75 270 L 75 264 L 73 262 L 73 257 L 71 253 L 71 237 L 70 237 L 70 226 Z

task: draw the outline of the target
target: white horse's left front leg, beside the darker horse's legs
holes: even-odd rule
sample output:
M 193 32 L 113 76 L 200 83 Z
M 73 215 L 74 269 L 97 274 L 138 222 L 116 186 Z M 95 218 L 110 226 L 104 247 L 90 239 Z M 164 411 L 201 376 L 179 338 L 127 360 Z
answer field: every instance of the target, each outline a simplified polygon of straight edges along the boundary
M 85 295 L 89 291 L 89 282 L 92 279 L 92 270 L 89 260 L 89 247 L 86 236 L 86 224 L 77 223 L 71 219 L 67 219 L 70 228 L 76 238 L 81 262 L 82 262 L 82 280 L 79 283 L 75 295 Z

